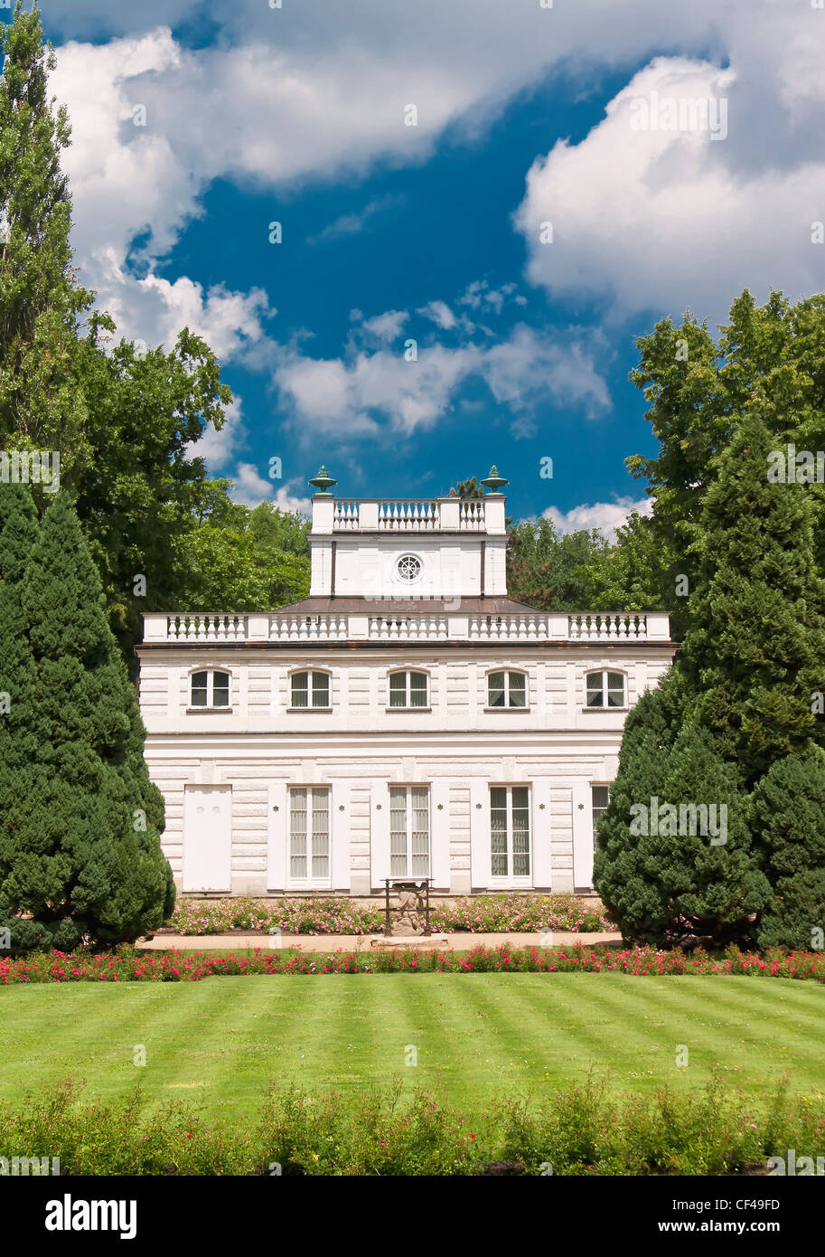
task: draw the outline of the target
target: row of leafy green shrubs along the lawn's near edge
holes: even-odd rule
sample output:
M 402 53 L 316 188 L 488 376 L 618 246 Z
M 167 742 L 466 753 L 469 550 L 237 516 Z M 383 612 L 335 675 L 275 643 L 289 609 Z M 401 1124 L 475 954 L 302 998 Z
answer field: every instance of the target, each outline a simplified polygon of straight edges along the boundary
M 825 1101 L 784 1089 L 763 1105 L 711 1077 L 704 1089 L 612 1096 L 588 1079 L 535 1106 L 507 1096 L 470 1116 L 401 1082 L 357 1097 L 265 1087 L 256 1120 L 203 1102 L 148 1109 L 136 1087 L 84 1102 L 70 1080 L 0 1104 L 9 1156 L 59 1158 L 63 1175 L 732 1174 L 771 1155 L 825 1154 Z

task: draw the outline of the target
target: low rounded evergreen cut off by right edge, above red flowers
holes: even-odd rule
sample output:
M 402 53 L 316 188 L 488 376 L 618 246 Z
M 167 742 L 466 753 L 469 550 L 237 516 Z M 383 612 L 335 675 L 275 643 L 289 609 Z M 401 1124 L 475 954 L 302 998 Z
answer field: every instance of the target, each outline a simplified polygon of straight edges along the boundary
M 779 759 L 757 782 L 751 828 L 774 887 L 760 920 L 760 947 L 809 950 L 816 945 L 814 931 L 825 929 L 825 754 L 819 748 Z

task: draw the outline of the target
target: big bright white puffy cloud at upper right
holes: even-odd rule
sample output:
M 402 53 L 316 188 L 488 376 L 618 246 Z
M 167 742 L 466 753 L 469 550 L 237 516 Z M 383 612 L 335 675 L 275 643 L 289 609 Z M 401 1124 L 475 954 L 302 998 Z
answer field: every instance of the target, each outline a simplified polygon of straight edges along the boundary
M 657 58 L 581 143 L 559 141 L 536 160 L 515 216 L 532 283 L 553 295 L 607 294 L 617 314 L 664 307 L 678 316 L 689 305 L 712 319 L 745 287 L 760 298 L 771 287 L 794 298 L 819 289 L 811 222 L 825 214 L 825 160 L 820 151 L 787 168 L 763 160 L 751 170 L 737 147 L 751 126 L 737 83 L 736 67 Z M 727 99 L 727 138 L 633 129 L 633 101 L 653 92 Z M 553 243 L 540 241 L 542 222 Z

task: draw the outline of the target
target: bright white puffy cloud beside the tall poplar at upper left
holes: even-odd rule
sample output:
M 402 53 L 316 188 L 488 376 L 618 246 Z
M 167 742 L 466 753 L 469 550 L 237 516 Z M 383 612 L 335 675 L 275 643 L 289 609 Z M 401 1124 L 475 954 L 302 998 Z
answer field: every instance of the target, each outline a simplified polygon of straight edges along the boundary
M 148 233 L 144 255 L 161 256 L 187 219 L 201 212 L 198 163 L 181 160 L 153 106 L 146 128 L 133 122 L 134 107 L 147 103 L 137 84 L 177 74 L 182 62 L 166 29 L 59 50 L 51 88 L 68 102 L 73 127 L 64 156 L 74 202 L 72 243 L 82 282 L 98 292 L 98 305 L 123 336 L 168 348 L 188 324 L 227 360 L 264 334 L 262 319 L 274 310 L 261 289 L 242 294 L 217 284 L 205 293 L 186 277 L 171 283 L 149 270 L 138 279 L 126 265 L 136 235 Z

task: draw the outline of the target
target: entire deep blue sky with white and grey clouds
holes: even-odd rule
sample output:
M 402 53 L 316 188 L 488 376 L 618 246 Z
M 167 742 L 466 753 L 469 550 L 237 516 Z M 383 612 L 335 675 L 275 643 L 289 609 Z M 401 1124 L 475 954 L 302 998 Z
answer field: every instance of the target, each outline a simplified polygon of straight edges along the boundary
M 495 463 L 510 514 L 610 534 L 655 453 L 635 338 L 825 288 L 825 0 L 41 9 L 80 280 L 211 346 L 197 453 L 249 505 Z

